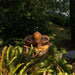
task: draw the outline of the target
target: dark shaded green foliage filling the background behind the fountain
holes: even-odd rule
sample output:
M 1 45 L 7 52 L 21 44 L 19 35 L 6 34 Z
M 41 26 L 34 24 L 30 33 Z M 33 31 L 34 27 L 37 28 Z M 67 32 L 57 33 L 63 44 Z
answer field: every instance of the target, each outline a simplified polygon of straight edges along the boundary
M 63 5 L 63 2 L 55 3 L 52 0 L 0 1 L 1 42 L 3 41 L 3 44 L 9 44 L 14 39 L 22 39 L 37 30 L 48 35 L 52 33 L 46 27 L 51 24 L 50 21 L 59 23 L 62 26 L 69 26 L 69 16 L 65 18 L 65 16 L 58 15 L 61 12 L 68 11 L 69 6 L 62 8 L 61 5 Z M 61 12 L 53 14 L 57 9 Z M 53 12 L 49 13 L 51 10 Z

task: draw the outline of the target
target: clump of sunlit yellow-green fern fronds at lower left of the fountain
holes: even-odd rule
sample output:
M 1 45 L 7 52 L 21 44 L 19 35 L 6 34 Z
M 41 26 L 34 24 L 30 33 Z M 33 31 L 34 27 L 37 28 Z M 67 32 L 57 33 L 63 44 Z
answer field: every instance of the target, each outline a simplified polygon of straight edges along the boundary
M 11 75 L 19 74 L 22 75 L 24 71 L 28 70 L 28 67 L 31 64 L 34 64 L 39 58 L 32 58 L 33 54 L 33 46 L 31 45 L 31 49 L 27 55 L 20 46 L 9 46 L 6 53 L 6 67 Z

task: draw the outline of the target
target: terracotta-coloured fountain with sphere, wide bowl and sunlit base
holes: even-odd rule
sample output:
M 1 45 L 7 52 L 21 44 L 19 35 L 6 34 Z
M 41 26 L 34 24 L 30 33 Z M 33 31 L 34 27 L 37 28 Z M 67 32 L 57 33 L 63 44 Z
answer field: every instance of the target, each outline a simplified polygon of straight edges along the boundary
M 35 56 L 41 56 L 47 53 L 49 47 L 52 45 L 51 43 L 49 43 L 50 38 L 47 35 L 42 35 L 38 31 L 33 35 L 26 36 L 24 40 L 24 48 L 30 48 L 31 44 L 33 45 L 33 47 L 36 47 L 34 48 L 34 50 L 36 50 Z

